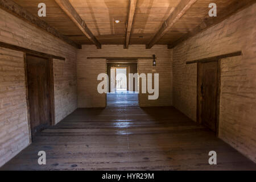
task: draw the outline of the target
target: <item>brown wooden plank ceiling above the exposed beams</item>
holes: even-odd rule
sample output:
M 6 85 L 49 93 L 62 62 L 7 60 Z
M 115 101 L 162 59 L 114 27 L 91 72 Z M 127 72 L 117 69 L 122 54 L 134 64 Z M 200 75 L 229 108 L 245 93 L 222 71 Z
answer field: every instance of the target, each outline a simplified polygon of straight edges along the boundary
M 61 34 L 68 36 L 77 44 L 93 44 L 87 38 L 81 27 L 67 15 L 56 0 L 14 0 L 31 14 L 38 16 L 38 4 L 46 3 L 47 16 L 40 19 L 44 20 Z M 130 3 L 129 0 L 68 0 L 76 13 L 86 23 L 86 26 L 100 42 L 100 44 L 126 44 L 127 22 L 129 20 Z M 133 1 L 133 0 L 130 0 Z M 182 7 L 180 3 L 191 3 L 191 6 Z M 243 0 L 251 2 L 250 0 Z M 237 0 L 137 0 L 133 19 L 131 18 L 131 32 L 129 44 L 172 44 L 182 38 L 188 32 L 199 26 L 205 19 L 209 18 L 209 3 L 216 3 L 218 13 L 225 11 L 226 8 Z M 182 9 L 184 8 L 184 9 Z M 176 10 L 175 10 L 176 9 Z M 184 10 L 184 14 L 175 23 L 167 28 L 164 22 L 172 14 L 179 15 Z M 172 15 L 174 16 L 174 15 Z M 175 16 L 176 17 L 176 16 Z M 172 20 L 175 17 L 171 17 Z M 114 20 L 119 20 L 115 23 Z M 164 34 L 158 36 L 160 28 L 164 28 Z M 155 42 L 152 41 L 155 36 Z M 148 48 L 151 48 L 149 46 Z

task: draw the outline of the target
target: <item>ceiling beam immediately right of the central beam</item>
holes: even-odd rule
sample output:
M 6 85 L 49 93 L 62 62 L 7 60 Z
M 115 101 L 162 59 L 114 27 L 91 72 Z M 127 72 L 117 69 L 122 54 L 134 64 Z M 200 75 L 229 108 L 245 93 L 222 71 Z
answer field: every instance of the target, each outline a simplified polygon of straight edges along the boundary
M 196 2 L 197 0 L 181 0 L 179 5 L 171 13 L 171 15 L 164 21 L 162 27 L 158 30 L 155 36 L 151 39 L 150 43 L 146 45 L 147 49 L 153 47 L 160 38 L 179 20 L 186 11 Z

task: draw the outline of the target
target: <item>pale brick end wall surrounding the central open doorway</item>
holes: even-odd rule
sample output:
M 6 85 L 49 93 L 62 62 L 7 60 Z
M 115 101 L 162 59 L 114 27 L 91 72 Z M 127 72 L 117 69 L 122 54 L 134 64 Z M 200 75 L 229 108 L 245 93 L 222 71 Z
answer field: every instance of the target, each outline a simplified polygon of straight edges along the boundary
M 154 46 L 146 49 L 143 45 L 132 45 L 123 49 L 123 45 L 107 45 L 102 49 L 95 46 L 82 46 L 77 51 L 77 84 L 79 107 L 104 107 L 105 94 L 98 94 L 97 75 L 106 72 L 105 59 L 86 59 L 89 56 L 113 57 L 149 57 L 156 55 L 156 67 L 152 67 L 152 60 L 138 60 L 139 73 L 159 73 L 159 98 L 148 100 L 148 94 L 139 94 L 141 106 L 170 106 L 172 105 L 172 62 L 171 51 L 167 46 Z M 90 76 L 91 75 L 91 76 Z M 86 92 L 87 90 L 87 92 Z

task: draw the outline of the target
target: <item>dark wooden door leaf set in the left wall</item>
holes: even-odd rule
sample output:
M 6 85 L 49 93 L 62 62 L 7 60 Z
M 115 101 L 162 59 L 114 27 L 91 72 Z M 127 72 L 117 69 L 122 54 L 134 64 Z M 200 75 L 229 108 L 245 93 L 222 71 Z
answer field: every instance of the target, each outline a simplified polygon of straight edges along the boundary
M 32 139 L 38 131 L 51 125 L 49 97 L 49 62 L 27 55 L 28 100 Z

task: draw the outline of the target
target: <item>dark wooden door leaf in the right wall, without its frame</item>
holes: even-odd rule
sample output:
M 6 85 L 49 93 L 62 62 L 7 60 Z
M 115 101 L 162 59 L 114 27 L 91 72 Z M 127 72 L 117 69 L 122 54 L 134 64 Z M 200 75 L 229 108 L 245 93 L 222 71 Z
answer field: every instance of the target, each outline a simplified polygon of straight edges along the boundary
M 217 126 L 217 92 L 218 92 L 218 61 L 201 65 L 201 96 L 203 125 L 216 132 Z

